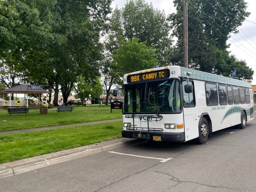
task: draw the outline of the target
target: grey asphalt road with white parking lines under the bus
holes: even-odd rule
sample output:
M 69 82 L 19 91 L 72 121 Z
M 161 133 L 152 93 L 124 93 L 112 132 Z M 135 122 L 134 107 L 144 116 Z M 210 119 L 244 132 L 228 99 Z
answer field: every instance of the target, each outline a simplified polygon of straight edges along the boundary
M 204 145 L 140 142 L 0 179 L 3 192 L 255 192 L 256 121 Z

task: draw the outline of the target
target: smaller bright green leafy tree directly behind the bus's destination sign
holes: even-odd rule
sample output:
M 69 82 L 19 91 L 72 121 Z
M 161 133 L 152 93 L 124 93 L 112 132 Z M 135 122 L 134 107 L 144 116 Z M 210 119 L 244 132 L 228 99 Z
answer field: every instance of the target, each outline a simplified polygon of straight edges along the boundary
M 112 66 L 115 67 L 119 79 L 128 72 L 154 68 L 158 63 L 156 50 L 146 46 L 144 42 L 139 42 L 138 38 L 128 41 L 120 39 L 120 48 L 114 52 Z

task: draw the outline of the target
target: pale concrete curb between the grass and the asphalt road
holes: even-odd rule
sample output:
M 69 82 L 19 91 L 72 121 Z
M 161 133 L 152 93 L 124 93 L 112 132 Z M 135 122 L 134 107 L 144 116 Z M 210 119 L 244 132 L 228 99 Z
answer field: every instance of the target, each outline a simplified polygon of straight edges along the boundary
M 4 164 L 0 164 L 0 179 L 9 176 L 16 176 L 21 173 L 44 168 L 58 163 L 67 162 L 70 160 L 83 158 L 98 153 L 103 153 L 108 150 L 136 144 L 138 142 L 141 141 L 137 139 L 120 138 L 101 142 L 98 144 L 92 144 L 51 154 L 45 154 L 37 157 L 26 158 L 14 162 L 7 162 Z

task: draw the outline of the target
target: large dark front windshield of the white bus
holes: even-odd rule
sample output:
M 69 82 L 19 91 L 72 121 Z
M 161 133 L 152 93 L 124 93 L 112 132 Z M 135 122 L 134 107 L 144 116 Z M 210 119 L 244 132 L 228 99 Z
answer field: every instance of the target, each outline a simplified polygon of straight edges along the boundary
M 177 113 L 181 111 L 180 83 L 168 79 L 124 86 L 124 113 Z

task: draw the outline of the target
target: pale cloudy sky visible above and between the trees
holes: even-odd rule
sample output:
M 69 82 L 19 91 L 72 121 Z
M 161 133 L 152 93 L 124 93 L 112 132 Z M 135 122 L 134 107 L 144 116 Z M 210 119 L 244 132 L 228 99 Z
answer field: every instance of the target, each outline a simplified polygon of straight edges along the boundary
M 172 0 L 145 0 L 152 3 L 154 8 L 164 10 L 165 14 L 176 12 Z M 238 34 L 230 34 L 231 37 L 227 44 L 231 44 L 228 51 L 235 55 L 238 60 L 244 60 L 247 65 L 254 70 L 252 84 L 256 85 L 256 0 L 245 0 L 247 2 L 247 11 L 250 16 L 238 27 Z M 124 7 L 126 0 L 114 0 L 112 8 Z M 189 43 L 189 42 L 188 42 Z M 230 72 L 231 73 L 231 72 Z M 239 73 L 236 71 L 236 73 Z

